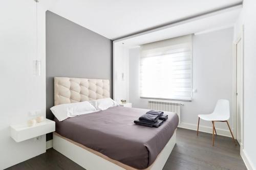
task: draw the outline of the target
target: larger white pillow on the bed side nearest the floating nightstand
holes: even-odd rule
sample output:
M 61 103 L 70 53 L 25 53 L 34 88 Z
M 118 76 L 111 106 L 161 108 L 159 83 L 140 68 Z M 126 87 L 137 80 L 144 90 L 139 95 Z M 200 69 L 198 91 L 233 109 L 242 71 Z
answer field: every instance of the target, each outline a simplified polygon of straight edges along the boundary
M 87 101 L 57 105 L 50 109 L 59 121 L 65 120 L 68 117 L 74 117 L 97 111 L 96 108 Z

